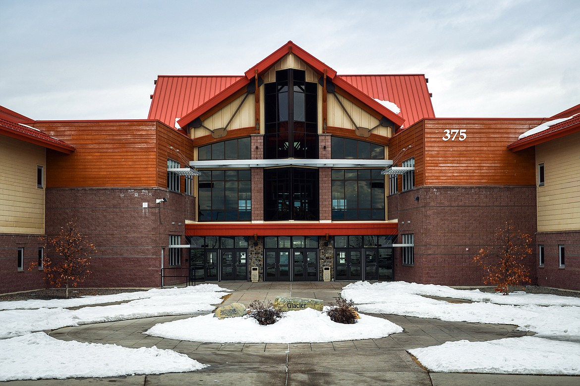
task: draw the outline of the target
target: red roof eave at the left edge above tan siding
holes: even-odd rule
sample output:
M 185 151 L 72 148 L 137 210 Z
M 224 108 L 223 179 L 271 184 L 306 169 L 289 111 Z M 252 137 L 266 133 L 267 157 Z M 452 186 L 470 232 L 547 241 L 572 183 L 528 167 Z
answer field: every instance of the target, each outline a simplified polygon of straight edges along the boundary
M 74 147 L 66 142 L 53 138 L 37 129 L 24 126 L 26 123 L 33 122 L 34 121 L 27 116 L 0 106 L 0 135 L 12 137 L 66 154 L 74 152 Z

